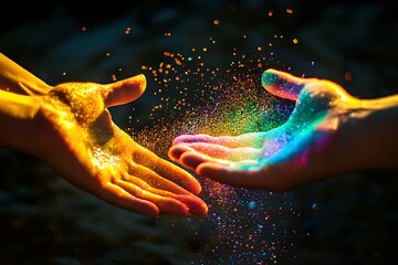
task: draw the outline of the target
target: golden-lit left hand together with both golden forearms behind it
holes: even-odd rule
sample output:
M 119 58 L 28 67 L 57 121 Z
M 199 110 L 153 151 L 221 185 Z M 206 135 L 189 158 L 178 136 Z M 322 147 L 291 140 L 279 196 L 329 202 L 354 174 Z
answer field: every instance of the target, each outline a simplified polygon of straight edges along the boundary
M 50 86 L 0 54 L 0 145 L 32 153 L 75 187 L 128 211 L 206 215 L 200 183 L 138 145 L 108 107 L 137 99 L 144 75 Z

